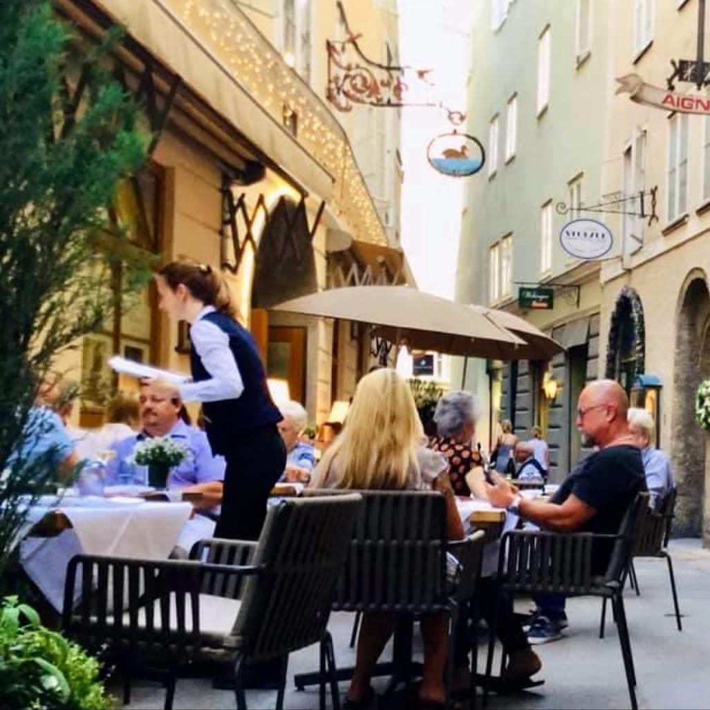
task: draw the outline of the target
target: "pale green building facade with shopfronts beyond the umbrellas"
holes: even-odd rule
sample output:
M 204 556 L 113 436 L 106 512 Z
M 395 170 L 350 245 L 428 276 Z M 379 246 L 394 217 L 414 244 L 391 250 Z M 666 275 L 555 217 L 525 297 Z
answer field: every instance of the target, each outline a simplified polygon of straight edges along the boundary
M 484 447 L 502 419 L 525 439 L 542 425 L 553 479 L 583 453 L 576 399 L 598 369 L 599 264 L 569 256 L 557 235 L 603 190 L 609 11 L 604 0 L 491 0 L 474 18 L 466 130 L 484 143 L 486 165 L 468 181 L 457 300 L 522 315 L 567 352 L 551 363 L 467 361 L 453 381 L 460 373 L 489 413 Z M 552 309 L 525 310 L 520 286 L 551 288 Z

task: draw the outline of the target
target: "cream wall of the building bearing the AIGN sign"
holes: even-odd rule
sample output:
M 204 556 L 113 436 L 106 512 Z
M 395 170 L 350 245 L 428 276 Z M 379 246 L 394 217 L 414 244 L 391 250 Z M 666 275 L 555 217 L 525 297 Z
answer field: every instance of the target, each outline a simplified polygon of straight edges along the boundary
M 697 2 L 688 2 L 682 9 L 677 3 L 655 3 L 655 32 L 653 43 L 645 54 L 633 62 L 633 4 L 616 3 L 609 16 L 611 33 L 611 76 L 620 77 L 637 73 L 645 82 L 665 86 L 665 77 L 670 74 L 670 58 L 693 58 L 697 37 Z M 611 85 L 609 87 L 611 92 Z M 678 92 L 694 93 L 692 84 L 677 84 Z M 688 219 L 677 229 L 663 234 L 669 223 L 667 215 L 667 160 L 668 118 L 667 111 L 643 107 L 631 102 L 628 94 L 611 99 L 611 120 L 607 133 L 603 192 L 623 189 L 623 151 L 635 131 L 647 132 L 645 164 L 646 187 L 658 186 L 657 214 L 659 221 L 645 225 L 643 249 L 630 257 L 626 264 L 613 259 L 603 264 L 602 317 L 600 331 L 600 370 L 606 361 L 608 332 L 611 312 L 621 288 L 634 288 L 643 305 L 645 317 L 645 371 L 660 376 L 663 382 L 661 394 L 661 441 L 660 446 L 670 451 L 672 435 L 672 403 L 674 399 L 673 376 L 675 367 L 675 342 L 677 310 L 682 285 L 687 275 L 696 268 L 710 271 L 710 213 L 697 214 L 703 203 L 702 197 L 702 141 L 704 118 L 689 116 L 688 142 Z M 605 215 L 621 241 L 621 217 Z M 623 266 L 626 266 L 625 270 Z

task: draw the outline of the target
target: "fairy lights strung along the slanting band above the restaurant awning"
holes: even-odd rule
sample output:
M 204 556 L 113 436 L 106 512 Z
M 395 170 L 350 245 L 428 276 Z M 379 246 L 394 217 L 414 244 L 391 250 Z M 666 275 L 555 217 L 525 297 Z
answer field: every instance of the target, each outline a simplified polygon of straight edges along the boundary
M 229 0 L 167 0 L 166 4 L 209 43 L 236 80 L 277 121 L 282 120 L 285 105 L 297 113 L 297 141 L 334 177 L 334 212 L 357 239 L 387 244 L 344 129 L 241 10 Z

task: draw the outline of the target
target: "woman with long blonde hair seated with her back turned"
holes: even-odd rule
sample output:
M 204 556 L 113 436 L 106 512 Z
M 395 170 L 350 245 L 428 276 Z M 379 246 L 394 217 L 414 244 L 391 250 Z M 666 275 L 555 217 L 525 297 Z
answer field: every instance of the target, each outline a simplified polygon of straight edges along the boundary
M 392 369 L 376 370 L 358 383 L 344 428 L 313 472 L 311 486 L 401 491 L 433 488 L 446 499 L 449 537 L 461 540 L 464 529 L 446 463 L 422 447 L 425 441 L 407 382 Z M 371 701 L 373 668 L 394 623 L 394 616 L 388 613 L 364 614 L 346 708 L 364 708 Z M 422 617 L 424 672 L 419 693 L 425 703 L 444 701 L 447 624 L 444 613 Z

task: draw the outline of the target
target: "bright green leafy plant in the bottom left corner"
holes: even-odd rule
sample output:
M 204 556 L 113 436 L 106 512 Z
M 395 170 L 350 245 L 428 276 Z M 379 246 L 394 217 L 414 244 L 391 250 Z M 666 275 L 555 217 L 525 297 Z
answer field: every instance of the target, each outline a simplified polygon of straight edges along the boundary
M 17 597 L 0 608 L 0 707 L 104 710 L 101 664 Z

